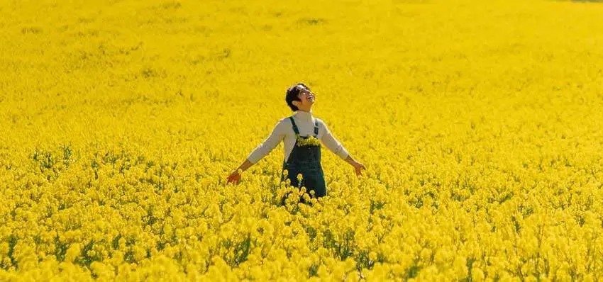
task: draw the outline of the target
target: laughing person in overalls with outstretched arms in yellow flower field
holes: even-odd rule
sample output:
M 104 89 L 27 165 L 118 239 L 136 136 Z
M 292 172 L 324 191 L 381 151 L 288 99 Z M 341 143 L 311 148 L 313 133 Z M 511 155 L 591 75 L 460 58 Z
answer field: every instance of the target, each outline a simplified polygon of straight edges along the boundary
M 237 184 L 240 181 L 240 171 L 245 171 L 270 153 L 278 143 L 284 142 L 284 159 L 282 169 L 287 169 L 287 178 L 293 186 L 305 186 L 306 191 L 314 191 L 316 198 L 326 196 L 326 185 L 321 167 L 321 145 L 319 140 L 331 152 L 354 167 L 356 175 L 362 175 L 364 165 L 356 162 L 328 130 L 326 124 L 312 116 L 312 105 L 315 102 L 314 93 L 308 86 L 299 83 L 287 89 L 285 101 L 292 111 L 297 111 L 288 118 L 278 121 L 272 133 L 251 152 L 247 159 L 228 176 L 228 183 Z M 297 175 L 302 174 L 299 182 Z M 281 181 L 284 180 L 284 174 Z M 302 200 L 303 201 L 303 200 Z

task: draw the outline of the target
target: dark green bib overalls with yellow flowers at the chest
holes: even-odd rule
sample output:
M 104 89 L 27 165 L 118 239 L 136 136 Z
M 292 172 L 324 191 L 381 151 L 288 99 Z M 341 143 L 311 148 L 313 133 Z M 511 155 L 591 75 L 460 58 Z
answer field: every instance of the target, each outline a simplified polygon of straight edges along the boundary
M 291 184 L 296 187 L 306 187 L 306 193 L 311 196 L 310 191 L 314 191 L 315 195 L 312 198 L 319 198 L 326 196 L 326 185 L 324 182 L 323 169 L 321 167 L 321 146 L 299 146 L 297 143 L 297 136 L 299 136 L 299 130 L 297 125 L 293 121 L 292 117 L 289 117 L 293 124 L 293 131 L 295 132 L 295 145 L 289 159 L 283 162 L 282 169 L 287 169 L 287 178 L 291 181 Z M 314 121 L 314 137 L 319 135 L 319 124 L 318 121 Z M 306 139 L 309 136 L 299 136 L 302 139 Z M 302 183 L 299 184 L 297 180 L 297 174 L 302 174 Z M 281 181 L 284 181 L 284 174 L 281 174 Z M 287 196 L 285 196 L 286 198 Z M 284 202 L 284 198 L 283 198 Z M 305 203 L 304 199 L 301 200 Z

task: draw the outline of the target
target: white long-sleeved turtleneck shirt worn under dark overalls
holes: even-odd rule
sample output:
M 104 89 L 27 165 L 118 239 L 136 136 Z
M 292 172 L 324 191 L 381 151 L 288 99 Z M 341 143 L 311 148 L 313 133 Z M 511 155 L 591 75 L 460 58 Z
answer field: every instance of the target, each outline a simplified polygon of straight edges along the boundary
M 293 120 L 295 121 L 295 125 L 297 125 L 299 135 L 314 136 L 315 119 L 318 121 L 319 125 L 319 134 L 316 138 L 321 140 L 322 144 L 325 145 L 328 150 L 331 150 L 331 152 L 341 157 L 341 159 L 347 158 L 348 151 L 345 150 L 345 147 L 343 147 L 343 145 L 341 145 L 341 142 L 339 142 L 333 136 L 333 134 L 331 134 L 331 132 L 326 127 L 326 124 L 320 118 L 314 118 L 312 116 L 311 111 L 297 111 L 293 115 Z M 293 125 L 291 123 L 291 120 L 289 120 L 289 117 L 280 119 L 277 125 L 275 125 L 275 128 L 272 130 L 272 133 L 270 133 L 270 135 L 268 135 L 268 137 L 266 137 L 266 139 L 249 154 L 247 159 L 252 164 L 259 162 L 262 157 L 264 157 L 265 155 L 270 153 L 272 149 L 277 147 L 281 140 L 283 140 L 284 145 L 283 161 L 286 161 L 287 159 L 289 159 L 289 154 L 291 154 L 291 152 L 293 151 L 293 147 L 295 145 L 296 140 L 295 132 L 293 131 Z

